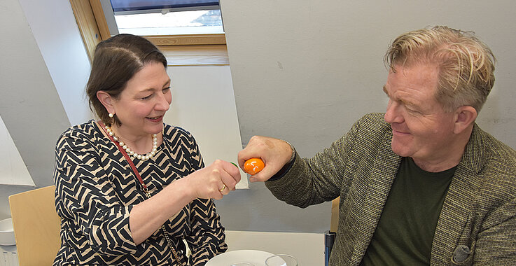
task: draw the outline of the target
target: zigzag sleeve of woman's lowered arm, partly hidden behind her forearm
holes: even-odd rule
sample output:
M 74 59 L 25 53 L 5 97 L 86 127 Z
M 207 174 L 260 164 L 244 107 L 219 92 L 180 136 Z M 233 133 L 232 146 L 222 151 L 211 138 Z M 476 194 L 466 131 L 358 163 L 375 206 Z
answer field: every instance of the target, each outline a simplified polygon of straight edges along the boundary
M 189 135 L 192 172 L 204 167 L 195 139 Z M 190 204 L 190 235 L 186 237 L 192 251 L 192 265 L 204 265 L 210 258 L 225 252 L 225 232 L 213 200 L 196 199 Z

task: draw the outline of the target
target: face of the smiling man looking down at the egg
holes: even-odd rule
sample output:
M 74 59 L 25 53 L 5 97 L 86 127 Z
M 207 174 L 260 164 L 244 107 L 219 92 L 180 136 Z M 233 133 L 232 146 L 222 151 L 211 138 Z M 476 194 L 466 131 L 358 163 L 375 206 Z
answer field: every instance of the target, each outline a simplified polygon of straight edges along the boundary
M 445 112 L 435 99 L 437 67 L 398 65 L 395 70 L 389 71 L 384 86 L 389 97 L 384 119 L 392 127 L 392 151 L 427 163 L 447 158 L 454 139 L 454 113 Z

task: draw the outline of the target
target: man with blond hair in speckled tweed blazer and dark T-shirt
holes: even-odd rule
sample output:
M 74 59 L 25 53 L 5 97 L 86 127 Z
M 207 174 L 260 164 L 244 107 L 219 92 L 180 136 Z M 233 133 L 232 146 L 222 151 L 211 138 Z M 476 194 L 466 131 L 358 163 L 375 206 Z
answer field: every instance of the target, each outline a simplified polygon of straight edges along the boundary
M 286 141 L 252 137 L 279 200 L 340 196 L 330 265 L 516 265 L 516 152 L 475 118 L 494 56 L 472 33 L 410 31 L 386 53 L 386 113 L 371 113 L 330 148 L 300 158 Z

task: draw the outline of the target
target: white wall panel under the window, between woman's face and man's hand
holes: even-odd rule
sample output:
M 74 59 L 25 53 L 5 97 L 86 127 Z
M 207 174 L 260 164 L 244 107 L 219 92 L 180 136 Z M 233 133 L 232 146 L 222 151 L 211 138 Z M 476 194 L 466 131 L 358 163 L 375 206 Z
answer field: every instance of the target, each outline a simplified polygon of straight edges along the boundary
M 169 66 L 172 104 L 164 122 L 193 134 L 204 165 L 216 159 L 237 163 L 242 139 L 230 66 Z M 249 188 L 240 170 L 237 188 Z

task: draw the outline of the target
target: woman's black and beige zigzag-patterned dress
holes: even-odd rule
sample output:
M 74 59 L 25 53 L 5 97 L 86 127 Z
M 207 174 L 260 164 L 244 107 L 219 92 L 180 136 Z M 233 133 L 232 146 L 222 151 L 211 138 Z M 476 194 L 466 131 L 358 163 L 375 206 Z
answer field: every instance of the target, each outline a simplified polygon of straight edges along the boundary
M 61 248 L 54 265 L 179 265 L 162 230 L 135 245 L 129 214 L 146 197 L 116 145 L 95 121 L 71 127 L 57 141 L 55 204 L 61 220 Z M 165 125 L 163 143 L 146 161 L 134 160 L 151 195 L 204 167 L 193 136 Z M 223 253 L 224 228 L 213 200 L 190 202 L 165 223 L 183 264 L 188 242 L 193 265 Z

